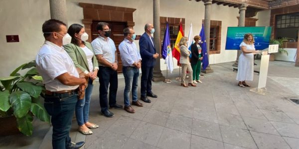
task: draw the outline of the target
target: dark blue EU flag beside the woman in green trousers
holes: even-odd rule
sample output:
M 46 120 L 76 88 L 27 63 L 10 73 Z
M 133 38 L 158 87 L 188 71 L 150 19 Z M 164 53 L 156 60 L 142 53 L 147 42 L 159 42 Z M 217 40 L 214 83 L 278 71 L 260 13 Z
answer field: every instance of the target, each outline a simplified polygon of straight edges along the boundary
M 203 54 L 202 58 L 202 69 L 205 70 L 209 66 L 209 59 L 208 59 L 208 52 L 207 52 L 207 44 L 205 40 L 205 34 L 204 34 L 204 26 L 202 23 L 202 27 L 199 33 L 199 36 L 201 37 L 200 47 L 201 47 L 201 53 Z

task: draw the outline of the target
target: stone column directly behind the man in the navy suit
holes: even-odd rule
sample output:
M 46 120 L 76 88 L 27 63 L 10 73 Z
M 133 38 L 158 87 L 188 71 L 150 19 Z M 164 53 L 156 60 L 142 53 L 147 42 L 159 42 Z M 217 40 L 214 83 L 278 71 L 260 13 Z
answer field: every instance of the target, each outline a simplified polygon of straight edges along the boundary
M 161 73 L 160 68 L 160 54 L 161 54 L 161 39 L 160 39 L 160 0 L 153 0 L 153 40 L 154 46 L 156 48 L 156 53 L 159 57 L 155 61 L 155 66 L 153 68 L 153 78 L 152 81 L 163 81 L 165 78 Z

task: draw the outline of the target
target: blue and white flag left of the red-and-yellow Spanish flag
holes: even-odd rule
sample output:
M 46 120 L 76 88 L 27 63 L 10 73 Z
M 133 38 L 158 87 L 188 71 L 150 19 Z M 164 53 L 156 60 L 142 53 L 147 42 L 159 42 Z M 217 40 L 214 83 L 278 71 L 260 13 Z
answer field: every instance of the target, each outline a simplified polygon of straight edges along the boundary
M 170 70 L 170 73 L 173 71 L 173 60 L 172 60 L 172 51 L 170 47 L 170 34 L 168 22 L 166 23 L 166 29 L 164 33 L 164 39 L 162 44 L 162 58 L 165 60 L 167 68 Z

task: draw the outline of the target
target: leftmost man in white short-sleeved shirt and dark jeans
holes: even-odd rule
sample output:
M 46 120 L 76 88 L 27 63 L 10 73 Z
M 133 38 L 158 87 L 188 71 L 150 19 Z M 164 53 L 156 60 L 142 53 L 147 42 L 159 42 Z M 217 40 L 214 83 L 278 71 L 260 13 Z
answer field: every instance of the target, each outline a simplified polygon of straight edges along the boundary
M 87 82 L 85 78 L 79 78 L 72 59 L 62 47 L 71 40 L 67 34 L 66 24 L 50 19 L 43 23 L 42 31 L 45 43 L 35 61 L 36 69 L 42 76 L 46 88 L 44 107 L 52 116 L 52 147 L 80 149 L 85 143 L 72 143 L 69 131 L 78 100 L 77 88 L 84 89 Z

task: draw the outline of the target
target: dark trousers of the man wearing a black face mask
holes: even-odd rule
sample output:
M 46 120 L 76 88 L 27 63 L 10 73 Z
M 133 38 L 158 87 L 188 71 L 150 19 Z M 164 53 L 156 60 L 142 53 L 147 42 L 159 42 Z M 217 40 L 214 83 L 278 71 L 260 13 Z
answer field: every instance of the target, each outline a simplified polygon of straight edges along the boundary
M 98 72 L 100 82 L 100 105 L 101 111 L 108 110 L 108 87 L 109 87 L 109 105 L 116 104 L 116 93 L 118 87 L 117 71 L 112 70 L 110 67 L 99 67 Z

